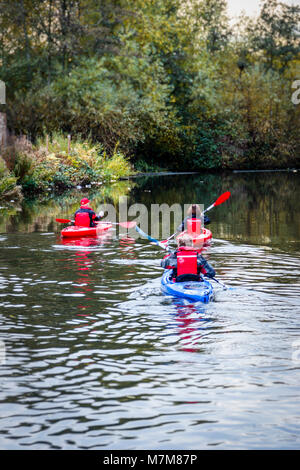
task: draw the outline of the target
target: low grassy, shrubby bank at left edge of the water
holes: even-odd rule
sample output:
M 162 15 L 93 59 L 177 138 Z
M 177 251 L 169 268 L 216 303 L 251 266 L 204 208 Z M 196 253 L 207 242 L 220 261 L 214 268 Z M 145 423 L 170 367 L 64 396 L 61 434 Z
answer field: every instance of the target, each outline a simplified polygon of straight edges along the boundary
M 117 146 L 108 155 L 101 145 L 60 133 L 34 145 L 27 138 L 16 138 L 0 156 L 0 198 L 101 185 L 133 173 Z

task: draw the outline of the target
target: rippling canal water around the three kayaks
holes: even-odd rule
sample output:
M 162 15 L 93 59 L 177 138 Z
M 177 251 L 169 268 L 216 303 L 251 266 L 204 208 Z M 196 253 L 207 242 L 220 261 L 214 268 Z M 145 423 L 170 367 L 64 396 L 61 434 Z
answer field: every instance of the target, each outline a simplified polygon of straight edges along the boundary
M 208 207 L 209 304 L 118 227 L 63 241 L 82 193 L 0 209 L 1 449 L 299 449 L 300 173 L 136 178 L 117 204 Z M 171 226 L 171 229 L 174 227 Z

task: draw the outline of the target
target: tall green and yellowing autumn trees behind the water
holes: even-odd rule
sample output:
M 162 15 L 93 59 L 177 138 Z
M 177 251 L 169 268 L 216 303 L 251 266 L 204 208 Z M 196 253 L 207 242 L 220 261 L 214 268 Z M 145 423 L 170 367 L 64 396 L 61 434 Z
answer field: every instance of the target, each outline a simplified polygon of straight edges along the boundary
M 0 0 L 2 110 L 137 170 L 297 166 L 299 24 L 278 0 L 236 24 L 225 0 Z

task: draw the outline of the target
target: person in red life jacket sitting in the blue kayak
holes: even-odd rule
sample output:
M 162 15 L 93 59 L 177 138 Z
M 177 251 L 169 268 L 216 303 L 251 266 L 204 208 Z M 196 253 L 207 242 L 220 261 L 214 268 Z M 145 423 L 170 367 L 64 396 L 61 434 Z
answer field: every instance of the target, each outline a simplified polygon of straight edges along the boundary
M 193 250 L 193 239 L 185 234 L 178 241 L 178 249 L 161 260 L 164 269 L 173 269 L 173 279 L 176 282 L 200 281 L 203 274 L 215 277 L 214 268 L 198 252 Z

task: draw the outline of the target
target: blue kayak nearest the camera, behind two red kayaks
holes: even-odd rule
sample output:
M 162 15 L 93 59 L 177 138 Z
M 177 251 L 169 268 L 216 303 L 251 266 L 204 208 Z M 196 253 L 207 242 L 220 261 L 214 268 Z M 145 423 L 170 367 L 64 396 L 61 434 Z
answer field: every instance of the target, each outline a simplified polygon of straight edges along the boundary
M 214 295 L 213 287 L 207 280 L 173 282 L 172 269 L 165 270 L 161 278 L 161 289 L 164 294 L 182 297 L 193 302 L 208 303 Z

